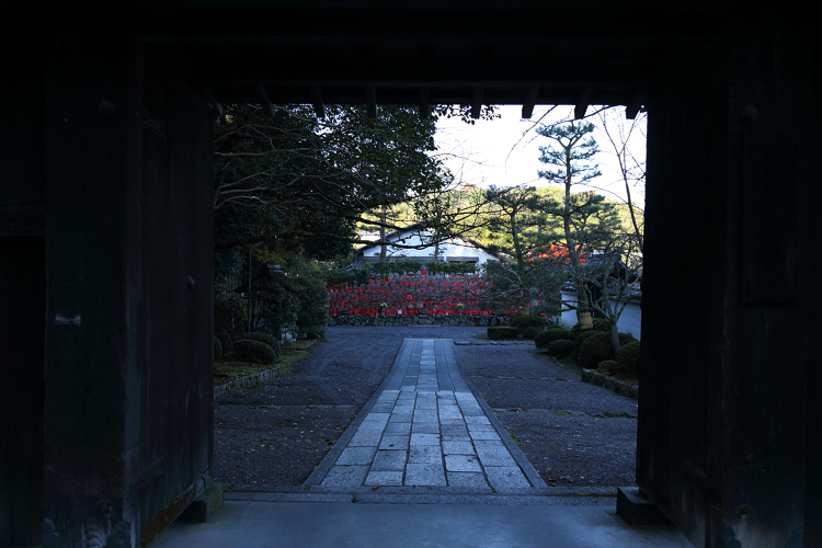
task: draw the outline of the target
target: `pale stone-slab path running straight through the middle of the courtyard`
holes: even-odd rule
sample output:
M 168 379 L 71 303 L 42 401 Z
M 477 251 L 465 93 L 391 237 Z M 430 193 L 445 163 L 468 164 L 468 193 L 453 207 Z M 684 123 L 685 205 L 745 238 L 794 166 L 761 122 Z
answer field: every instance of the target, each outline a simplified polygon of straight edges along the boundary
M 386 383 L 306 484 L 445 493 L 545 487 L 466 384 L 450 339 L 406 339 Z

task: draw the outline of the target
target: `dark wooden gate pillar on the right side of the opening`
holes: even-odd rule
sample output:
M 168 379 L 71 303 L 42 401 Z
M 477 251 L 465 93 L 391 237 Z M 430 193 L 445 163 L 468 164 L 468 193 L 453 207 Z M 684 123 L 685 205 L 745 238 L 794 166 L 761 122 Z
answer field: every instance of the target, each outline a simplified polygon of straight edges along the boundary
M 819 546 L 813 48 L 738 23 L 649 105 L 638 483 L 697 546 Z

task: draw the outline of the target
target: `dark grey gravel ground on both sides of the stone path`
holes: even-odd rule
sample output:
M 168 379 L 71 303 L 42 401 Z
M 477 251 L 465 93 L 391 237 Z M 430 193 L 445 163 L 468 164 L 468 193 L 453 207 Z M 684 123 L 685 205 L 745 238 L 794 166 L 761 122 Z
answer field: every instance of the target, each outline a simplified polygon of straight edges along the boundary
M 454 339 L 468 379 L 549 486 L 632 486 L 637 403 L 484 328 L 330 328 L 294 373 L 215 402 L 214 478 L 300 486 L 386 378 L 403 339 Z

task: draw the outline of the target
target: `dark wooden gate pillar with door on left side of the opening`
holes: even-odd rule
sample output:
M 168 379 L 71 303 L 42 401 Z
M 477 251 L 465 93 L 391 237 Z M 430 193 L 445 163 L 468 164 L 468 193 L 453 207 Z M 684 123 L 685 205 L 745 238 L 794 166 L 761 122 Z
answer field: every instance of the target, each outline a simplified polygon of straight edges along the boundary
M 136 39 L 52 46 L 44 541 L 145 545 L 209 480 L 212 118 Z

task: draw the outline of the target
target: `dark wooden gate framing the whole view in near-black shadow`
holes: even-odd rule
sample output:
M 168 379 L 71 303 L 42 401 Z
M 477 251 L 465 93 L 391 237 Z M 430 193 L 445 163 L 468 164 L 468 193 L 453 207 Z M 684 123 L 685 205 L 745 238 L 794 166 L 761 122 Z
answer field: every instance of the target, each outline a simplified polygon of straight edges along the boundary
M 644 107 L 637 481 L 696 546 L 822 545 L 810 12 L 498 3 L 48 12 L 3 89 L 0 546 L 94 526 L 145 545 L 210 482 L 209 132 L 229 102 Z

